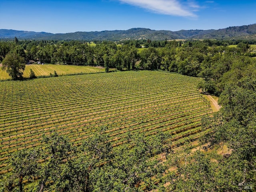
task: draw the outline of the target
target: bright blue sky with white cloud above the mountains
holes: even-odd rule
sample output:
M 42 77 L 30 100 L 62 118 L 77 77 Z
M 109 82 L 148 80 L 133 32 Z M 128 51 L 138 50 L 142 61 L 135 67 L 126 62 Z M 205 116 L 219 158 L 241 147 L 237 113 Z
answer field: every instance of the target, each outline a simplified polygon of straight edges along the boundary
M 220 29 L 256 23 L 256 0 L 0 0 L 0 29 Z

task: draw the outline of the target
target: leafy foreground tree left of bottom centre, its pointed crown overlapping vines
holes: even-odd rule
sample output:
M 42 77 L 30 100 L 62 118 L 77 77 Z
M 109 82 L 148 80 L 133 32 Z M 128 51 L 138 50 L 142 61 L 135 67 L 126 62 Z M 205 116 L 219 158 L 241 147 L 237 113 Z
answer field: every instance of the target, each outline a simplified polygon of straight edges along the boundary
M 104 168 L 104 163 L 110 162 L 112 157 L 112 145 L 109 136 L 104 134 L 104 128 L 86 139 L 80 150 L 77 150 L 76 158 L 71 158 L 63 164 L 60 177 L 54 186 L 58 191 L 66 192 L 92 192 L 95 179 L 99 179 L 98 170 Z

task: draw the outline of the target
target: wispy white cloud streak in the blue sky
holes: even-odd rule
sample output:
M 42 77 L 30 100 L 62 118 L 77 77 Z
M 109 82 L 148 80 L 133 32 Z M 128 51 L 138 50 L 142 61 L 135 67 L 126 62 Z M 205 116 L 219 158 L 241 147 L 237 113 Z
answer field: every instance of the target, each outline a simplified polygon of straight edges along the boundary
M 194 1 L 180 0 L 118 0 L 120 2 L 139 6 L 141 8 L 174 16 L 196 17 L 195 12 L 200 8 Z

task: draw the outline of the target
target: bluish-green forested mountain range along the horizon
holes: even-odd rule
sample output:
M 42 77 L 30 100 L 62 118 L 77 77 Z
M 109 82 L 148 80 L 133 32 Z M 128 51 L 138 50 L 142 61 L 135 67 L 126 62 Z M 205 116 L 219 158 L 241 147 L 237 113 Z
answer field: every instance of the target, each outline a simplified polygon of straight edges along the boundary
M 256 24 L 233 26 L 219 30 L 151 30 L 148 28 L 132 28 L 129 30 L 94 31 L 94 32 L 74 32 L 52 34 L 47 32 L 31 32 L 0 29 L 0 39 L 24 40 L 173 40 L 173 39 L 256 39 Z

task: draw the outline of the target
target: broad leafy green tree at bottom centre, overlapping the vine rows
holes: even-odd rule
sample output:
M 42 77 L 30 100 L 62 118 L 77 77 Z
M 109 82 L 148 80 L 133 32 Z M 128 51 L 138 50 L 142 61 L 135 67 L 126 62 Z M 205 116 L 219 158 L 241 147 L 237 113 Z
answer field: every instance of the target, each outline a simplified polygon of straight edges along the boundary
M 142 192 L 156 188 L 156 183 L 162 178 L 166 167 L 154 156 L 166 152 L 163 146 L 164 136 L 147 138 L 144 134 L 135 134 L 127 137 L 127 143 L 120 148 L 114 148 L 115 157 L 109 171 L 103 173 L 105 190 L 100 191 L 126 191 Z M 110 186 L 111 185 L 111 186 Z M 108 188 L 107 188 L 108 186 Z

